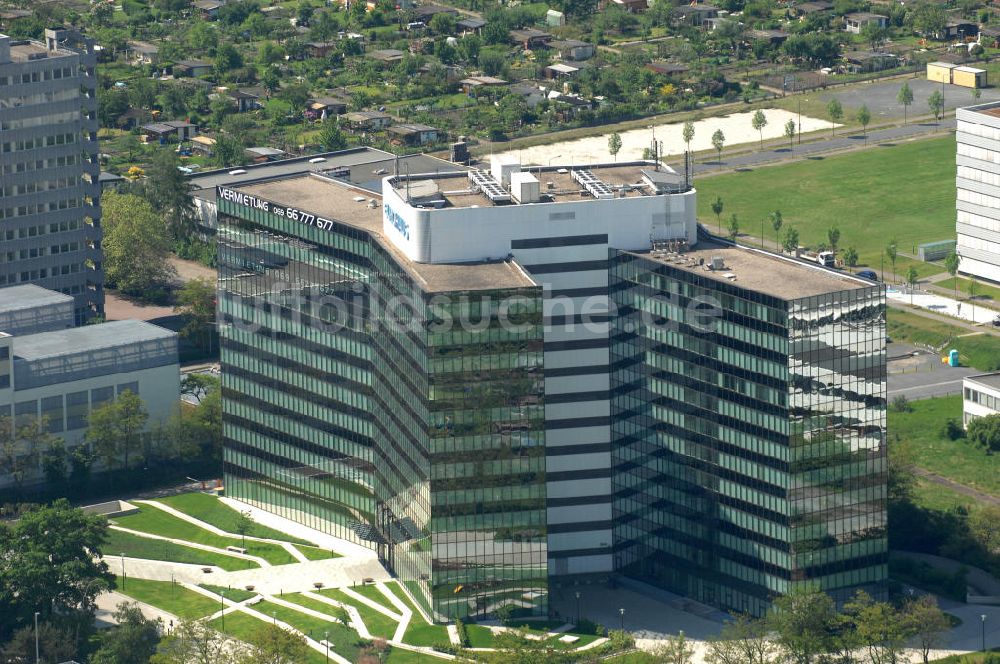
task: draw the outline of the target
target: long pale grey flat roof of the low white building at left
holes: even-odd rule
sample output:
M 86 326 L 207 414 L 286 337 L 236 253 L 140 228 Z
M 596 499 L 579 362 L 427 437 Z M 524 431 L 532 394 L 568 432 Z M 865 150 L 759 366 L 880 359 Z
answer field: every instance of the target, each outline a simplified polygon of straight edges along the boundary
M 41 360 L 61 355 L 176 338 L 177 333 L 141 320 L 117 320 L 14 338 L 14 356 Z

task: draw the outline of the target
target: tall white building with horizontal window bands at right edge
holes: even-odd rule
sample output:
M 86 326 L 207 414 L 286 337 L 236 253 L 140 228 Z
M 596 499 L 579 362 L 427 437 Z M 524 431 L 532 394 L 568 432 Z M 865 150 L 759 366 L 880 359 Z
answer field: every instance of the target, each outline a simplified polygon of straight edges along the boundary
M 1000 102 L 957 112 L 959 271 L 1000 283 Z

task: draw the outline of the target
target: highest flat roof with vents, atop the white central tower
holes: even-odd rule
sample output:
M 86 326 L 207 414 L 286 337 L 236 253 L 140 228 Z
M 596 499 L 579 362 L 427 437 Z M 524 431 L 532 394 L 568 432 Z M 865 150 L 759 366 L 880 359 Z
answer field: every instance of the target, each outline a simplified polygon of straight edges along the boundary
M 505 163 L 516 163 L 516 158 L 504 160 Z M 490 172 L 490 164 L 478 164 L 478 168 Z M 589 171 L 600 183 L 607 187 L 607 192 L 615 198 L 637 198 L 640 196 L 659 195 L 644 182 L 643 171 L 655 172 L 655 162 L 623 162 L 618 164 L 587 164 L 576 166 L 523 166 L 522 173 L 531 173 L 539 181 L 539 203 L 555 203 L 567 201 L 587 201 L 594 200 L 592 194 L 588 193 L 577 179 L 574 179 L 574 171 Z M 664 174 L 674 174 L 672 169 L 661 166 Z M 429 177 L 428 177 L 429 175 Z M 492 176 L 490 176 L 492 180 Z M 510 204 L 510 201 L 496 203 L 492 201 L 481 187 L 476 187 L 469 179 L 466 169 L 455 165 L 451 172 L 433 174 L 424 172 L 417 174 L 417 171 L 410 171 L 407 178 L 402 171 L 393 179 L 392 186 L 398 192 L 406 190 L 407 180 L 412 185 L 415 180 L 430 181 L 437 187 L 438 193 L 445 200 L 449 207 L 489 207 L 499 204 Z M 497 184 L 495 180 L 493 183 Z M 423 185 L 422 186 L 426 186 Z M 498 185 L 499 186 L 499 185 Z M 501 187 L 502 188 L 502 187 Z M 506 191 L 506 190 L 504 190 Z M 582 193 L 581 193 L 582 192 Z M 509 192 L 508 192 L 509 193 Z M 404 196 L 405 198 L 405 196 Z

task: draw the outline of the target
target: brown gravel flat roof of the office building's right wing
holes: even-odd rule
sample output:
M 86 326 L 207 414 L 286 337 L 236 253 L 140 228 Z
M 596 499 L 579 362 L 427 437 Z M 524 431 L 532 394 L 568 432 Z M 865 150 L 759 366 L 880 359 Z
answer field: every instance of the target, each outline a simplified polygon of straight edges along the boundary
M 734 246 L 721 240 L 701 241 L 691 250 L 679 254 L 652 251 L 628 253 L 780 300 L 797 300 L 875 286 L 871 281 L 846 272 L 829 270 L 760 249 Z M 723 259 L 725 268 L 710 270 L 708 266 L 717 256 Z

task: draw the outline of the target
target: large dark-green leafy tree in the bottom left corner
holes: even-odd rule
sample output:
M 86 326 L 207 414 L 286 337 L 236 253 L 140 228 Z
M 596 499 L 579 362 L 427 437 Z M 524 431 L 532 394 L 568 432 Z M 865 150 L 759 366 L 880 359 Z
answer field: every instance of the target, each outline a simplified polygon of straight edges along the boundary
M 65 499 L 0 523 L 0 642 L 15 630 L 58 616 L 75 634 L 93 623 L 94 599 L 114 576 L 97 556 L 108 530 L 103 516 L 85 514 Z M 74 643 L 77 642 L 74 636 Z

